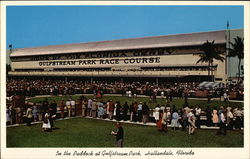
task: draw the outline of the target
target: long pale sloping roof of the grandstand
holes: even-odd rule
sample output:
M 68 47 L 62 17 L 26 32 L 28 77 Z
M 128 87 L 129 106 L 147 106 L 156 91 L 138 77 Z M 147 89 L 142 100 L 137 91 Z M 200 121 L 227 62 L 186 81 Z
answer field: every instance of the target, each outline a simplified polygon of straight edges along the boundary
M 115 51 L 115 50 L 131 50 L 143 48 L 163 48 L 163 47 L 181 47 L 181 46 L 197 46 L 204 42 L 215 41 L 215 44 L 226 43 L 226 31 L 211 31 L 189 34 L 176 34 L 164 36 L 152 36 L 133 39 L 120 39 L 110 41 L 98 41 L 88 43 L 51 45 L 32 48 L 15 49 L 11 53 L 11 57 L 18 56 L 36 56 L 36 55 L 55 55 L 64 53 L 79 52 L 98 52 L 98 51 Z

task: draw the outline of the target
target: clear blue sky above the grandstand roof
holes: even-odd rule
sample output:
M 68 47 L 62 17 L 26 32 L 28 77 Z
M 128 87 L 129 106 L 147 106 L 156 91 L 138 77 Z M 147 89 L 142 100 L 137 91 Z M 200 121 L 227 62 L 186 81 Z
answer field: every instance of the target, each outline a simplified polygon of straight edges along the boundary
M 13 48 L 243 28 L 243 6 L 8 6 Z

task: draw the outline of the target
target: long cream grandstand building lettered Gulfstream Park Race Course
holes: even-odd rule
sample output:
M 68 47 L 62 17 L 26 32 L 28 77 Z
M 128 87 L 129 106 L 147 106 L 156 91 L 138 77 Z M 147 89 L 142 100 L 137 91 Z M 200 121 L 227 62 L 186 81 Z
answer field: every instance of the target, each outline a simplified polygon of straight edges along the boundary
M 198 63 L 201 45 L 208 41 L 225 52 L 233 36 L 243 30 L 199 32 L 133 39 L 20 48 L 11 51 L 11 77 L 119 78 L 150 81 L 204 81 L 214 76 L 226 82 L 237 77 L 232 67 L 237 58 L 214 61 L 213 75 L 208 64 Z M 242 63 L 243 65 L 243 63 Z M 234 71 L 232 71 L 235 69 Z

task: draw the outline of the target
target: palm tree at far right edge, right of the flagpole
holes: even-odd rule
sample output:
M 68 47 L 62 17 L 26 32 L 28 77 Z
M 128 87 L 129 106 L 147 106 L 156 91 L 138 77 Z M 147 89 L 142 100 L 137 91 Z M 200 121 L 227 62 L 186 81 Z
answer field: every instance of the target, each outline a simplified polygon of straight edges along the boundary
M 237 36 L 234 38 L 234 43 L 229 42 L 229 45 L 232 46 L 232 48 L 228 49 L 228 57 L 238 57 L 239 63 L 238 63 L 238 82 L 240 80 L 240 64 L 241 60 L 244 58 L 244 39 Z

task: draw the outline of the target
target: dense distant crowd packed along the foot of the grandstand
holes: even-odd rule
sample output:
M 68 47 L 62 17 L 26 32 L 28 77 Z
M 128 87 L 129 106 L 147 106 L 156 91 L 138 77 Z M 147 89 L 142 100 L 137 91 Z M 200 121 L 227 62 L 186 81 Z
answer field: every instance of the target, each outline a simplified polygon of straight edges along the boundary
M 154 82 L 107 82 L 107 81 L 87 81 L 87 80 L 43 80 L 43 79 L 8 79 L 7 96 L 16 94 L 28 97 L 36 95 L 73 95 L 73 94 L 93 94 L 101 91 L 102 94 L 126 94 L 128 91 L 132 95 L 147 95 L 156 97 L 159 95 L 167 98 L 173 97 L 199 97 L 196 92 L 204 91 L 208 98 L 223 97 L 234 92 L 234 98 L 243 100 L 244 88 L 241 85 L 228 85 L 224 88 L 204 89 L 199 87 L 198 82 L 164 82 L 156 84 Z

